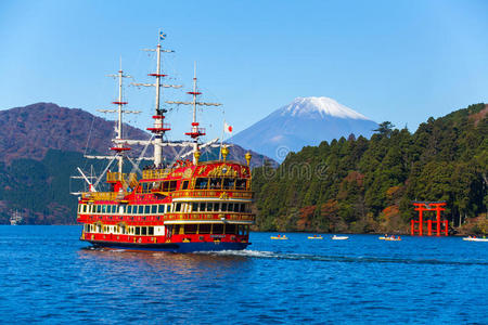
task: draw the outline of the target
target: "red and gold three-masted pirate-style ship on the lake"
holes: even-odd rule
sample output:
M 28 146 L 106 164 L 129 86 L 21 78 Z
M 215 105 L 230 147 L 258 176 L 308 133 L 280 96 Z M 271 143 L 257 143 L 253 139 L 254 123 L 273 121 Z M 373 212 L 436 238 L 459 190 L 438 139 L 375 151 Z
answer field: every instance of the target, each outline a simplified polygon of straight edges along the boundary
M 88 191 L 77 193 L 78 222 L 82 223 L 81 240 L 94 247 L 130 250 L 153 250 L 190 252 L 201 250 L 244 249 L 251 243 L 249 225 L 255 221 L 251 211 L 253 202 L 251 154 L 245 155 L 246 164 L 228 160 L 229 148 L 218 144 L 218 139 L 206 144 L 200 143 L 205 129 L 197 121 L 198 106 L 218 106 L 217 103 L 200 101 L 202 94 L 197 89 L 196 74 L 193 90 L 188 94 L 190 102 L 167 101 L 169 105 L 191 105 L 193 119 L 191 129 L 185 133 L 187 142 L 171 143 L 165 141 L 170 126 L 165 121 L 167 109 L 162 108 L 159 99 L 163 88 L 179 86 L 164 84 L 166 77 L 162 72 L 160 54 L 170 52 L 160 46 L 165 35 L 159 35 L 155 52 L 156 72 L 149 76 L 154 83 L 134 83 L 154 87 L 156 90 L 154 125 L 147 130 L 150 140 L 124 139 L 123 118 L 125 114 L 139 113 L 125 109 L 127 102 L 123 98 L 123 80 L 128 77 L 118 72 L 118 100 L 113 102 L 116 109 L 116 136 L 111 147 L 112 155 L 87 156 L 87 158 L 107 159 L 108 164 L 100 177 L 89 177 L 78 168 L 79 178 L 88 184 Z M 142 145 L 140 157 L 129 155 L 131 145 Z M 143 157 L 147 146 L 154 147 L 153 157 Z M 184 155 L 167 164 L 164 159 L 165 147 L 189 147 Z M 218 160 L 202 161 L 204 147 L 219 146 Z M 189 159 L 192 157 L 192 159 Z M 151 165 L 142 170 L 141 160 L 149 159 Z M 110 171 L 113 162 L 117 171 Z M 130 172 L 124 172 L 124 165 L 129 161 Z M 107 191 L 98 191 L 100 182 L 105 179 Z

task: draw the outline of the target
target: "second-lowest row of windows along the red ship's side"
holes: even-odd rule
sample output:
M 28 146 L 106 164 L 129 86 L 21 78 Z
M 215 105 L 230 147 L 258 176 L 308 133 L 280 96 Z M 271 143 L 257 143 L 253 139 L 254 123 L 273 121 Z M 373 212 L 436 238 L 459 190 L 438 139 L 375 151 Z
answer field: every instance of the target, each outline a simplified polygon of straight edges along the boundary
M 160 214 L 169 212 L 251 212 L 249 204 L 242 203 L 176 203 L 174 205 L 78 205 L 78 213 L 94 214 Z

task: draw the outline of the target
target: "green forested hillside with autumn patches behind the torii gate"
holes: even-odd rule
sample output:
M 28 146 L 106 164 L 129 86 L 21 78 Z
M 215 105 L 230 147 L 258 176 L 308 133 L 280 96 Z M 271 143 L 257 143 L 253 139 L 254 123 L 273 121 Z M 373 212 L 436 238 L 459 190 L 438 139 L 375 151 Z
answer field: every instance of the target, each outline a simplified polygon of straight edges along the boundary
M 471 105 L 413 134 L 383 122 L 371 140 L 322 142 L 255 168 L 257 229 L 406 233 L 412 200 L 446 200 L 451 226 L 476 220 L 468 231 L 486 233 L 487 115 Z

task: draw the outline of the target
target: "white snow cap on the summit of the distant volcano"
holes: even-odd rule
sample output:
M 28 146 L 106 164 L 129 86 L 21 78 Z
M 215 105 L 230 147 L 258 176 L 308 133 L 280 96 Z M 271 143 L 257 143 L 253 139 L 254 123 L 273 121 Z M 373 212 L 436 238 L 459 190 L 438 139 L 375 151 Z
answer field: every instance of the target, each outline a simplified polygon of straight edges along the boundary
M 290 105 L 282 108 L 281 115 L 312 117 L 314 114 L 335 116 L 339 118 L 365 119 L 362 114 L 346 107 L 330 98 L 296 98 Z

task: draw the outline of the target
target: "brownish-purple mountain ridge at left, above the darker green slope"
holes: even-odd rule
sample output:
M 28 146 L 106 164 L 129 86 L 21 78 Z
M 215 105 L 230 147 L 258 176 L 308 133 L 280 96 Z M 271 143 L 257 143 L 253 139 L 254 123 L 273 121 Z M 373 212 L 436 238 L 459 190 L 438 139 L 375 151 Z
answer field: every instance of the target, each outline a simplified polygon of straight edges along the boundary
M 128 138 L 149 139 L 146 132 L 125 125 Z M 49 148 L 84 153 L 85 148 L 106 154 L 114 122 L 79 108 L 37 103 L 0 110 L 0 160 L 40 160 Z

